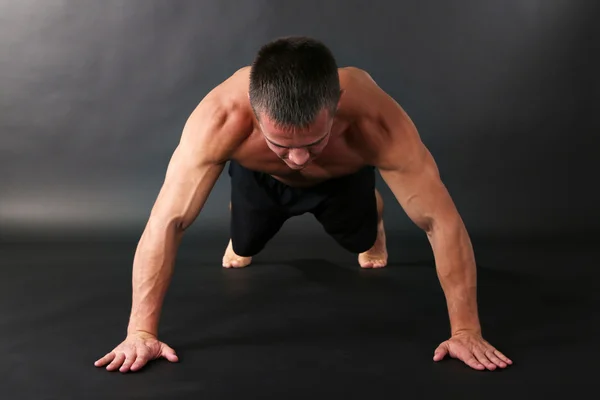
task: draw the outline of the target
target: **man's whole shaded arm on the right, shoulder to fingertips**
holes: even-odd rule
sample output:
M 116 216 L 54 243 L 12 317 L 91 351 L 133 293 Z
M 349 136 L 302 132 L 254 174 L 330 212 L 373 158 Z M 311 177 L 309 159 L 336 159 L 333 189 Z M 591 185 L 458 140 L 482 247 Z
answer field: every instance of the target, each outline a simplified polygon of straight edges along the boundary
M 512 361 L 483 339 L 477 310 L 477 272 L 463 220 L 443 184 L 437 165 L 412 121 L 399 107 L 382 116 L 383 140 L 377 145 L 382 178 L 409 218 L 426 234 L 446 298 L 451 338 L 435 350 L 474 369 L 504 368 Z

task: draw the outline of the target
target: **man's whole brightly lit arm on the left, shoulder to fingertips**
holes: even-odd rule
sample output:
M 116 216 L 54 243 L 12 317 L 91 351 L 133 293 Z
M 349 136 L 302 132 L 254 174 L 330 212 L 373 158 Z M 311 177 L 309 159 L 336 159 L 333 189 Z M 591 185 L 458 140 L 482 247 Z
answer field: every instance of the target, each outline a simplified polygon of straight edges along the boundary
M 241 72 L 212 90 L 185 124 L 135 252 L 127 337 L 96 360 L 97 367 L 127 372 L 160 357 L 178 361 L 175 350 L 157 337 L 161 309 L 184 231 L 250 132 L 244 107 L 236 106 L 243 94 Z

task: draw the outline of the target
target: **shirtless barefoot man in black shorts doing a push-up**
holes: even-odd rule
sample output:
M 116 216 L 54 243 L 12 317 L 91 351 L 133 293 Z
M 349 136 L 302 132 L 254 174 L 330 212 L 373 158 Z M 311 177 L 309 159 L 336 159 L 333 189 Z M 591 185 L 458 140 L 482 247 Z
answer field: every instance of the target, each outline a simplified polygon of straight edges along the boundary
M 183 232 L 228 161 L 224 267 L 247 266 L 285 220 L 307 212 L 358 254 L 360 267 L 384 267 L 377 168 L 434 251 L 452 332 L 434 360 L 450 355 L 478 370 L 512 364 L 481 336 L 470 239 L 409 117 L 366 72 L 338 68 L 316 40 L 288 37 L 264 45 L 186 122 L 134 257 L 127 337 L 96 366 L 126 372 L 159 357 L 178 360 L 157 338 L 163 299 Z

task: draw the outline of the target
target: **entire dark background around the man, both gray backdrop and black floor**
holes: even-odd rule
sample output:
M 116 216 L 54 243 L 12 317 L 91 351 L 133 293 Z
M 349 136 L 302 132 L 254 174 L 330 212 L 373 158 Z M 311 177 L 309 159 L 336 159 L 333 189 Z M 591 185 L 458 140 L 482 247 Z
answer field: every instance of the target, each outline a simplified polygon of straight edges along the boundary
M 0 397 L 587 387 L 600 351 L 595 3 L 0 0 Z M 122 379 L 93 367 L 124 338 L 135 244 L 187 117 L 283 35 L 323 40 L 414 120 L 473 239 L 506 374 L 431 362 L 448 334 L 433 255 L 381 180 L 385 269 L 361 271 L 303 216 L 231 271 L 226 174 L 184 239 L 161 320 L 184 362 Z

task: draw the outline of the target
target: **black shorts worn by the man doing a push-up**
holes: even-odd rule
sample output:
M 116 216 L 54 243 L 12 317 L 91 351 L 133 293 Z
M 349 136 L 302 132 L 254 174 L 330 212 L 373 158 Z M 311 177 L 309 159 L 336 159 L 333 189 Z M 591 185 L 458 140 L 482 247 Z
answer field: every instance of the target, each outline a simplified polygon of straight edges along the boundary
M 284 222 L 311 213 L 325 232 L 353 253 L 370 249 L 377 238 L 375 168 L 308 188 L 288 186 L 272 176 L 230 161 L 231 241 L 239 256 L 260 252 Z

